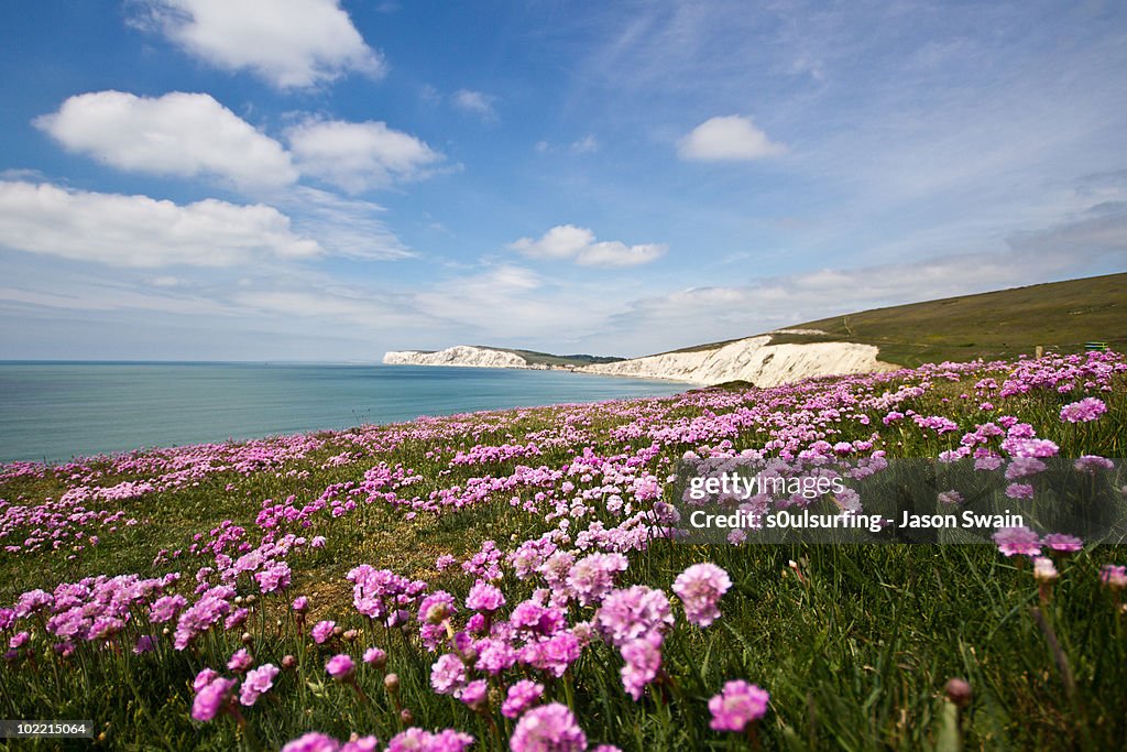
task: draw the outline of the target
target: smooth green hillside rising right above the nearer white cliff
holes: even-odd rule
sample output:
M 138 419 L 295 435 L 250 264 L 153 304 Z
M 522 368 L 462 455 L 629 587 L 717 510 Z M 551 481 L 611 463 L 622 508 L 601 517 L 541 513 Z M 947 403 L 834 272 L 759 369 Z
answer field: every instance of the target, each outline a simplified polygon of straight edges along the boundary
M 977 295 L 878 308 L 795 325 L 819 335 L 772 335 L 773 343 L 857 342 L 880 348 L 880 360 L 926 362 L 1013 357 L 1047 351 L 1081 352 L 1091 339 L 1113 350 L 1127 343 L 1127 274 L 1070 280 Z M 712 350 L 726 342 L 674 352 Z

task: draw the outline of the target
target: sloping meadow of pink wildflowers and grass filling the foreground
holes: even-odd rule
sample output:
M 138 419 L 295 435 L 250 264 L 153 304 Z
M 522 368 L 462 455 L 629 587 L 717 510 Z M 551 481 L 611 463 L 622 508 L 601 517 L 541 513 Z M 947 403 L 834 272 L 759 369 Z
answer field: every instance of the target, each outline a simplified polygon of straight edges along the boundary
M 1127 548 L 1047 524 L 1045 463 L 1115 504 L 1125 455 L 1098 352 L 7 465 L 0 717 L 145 750 L 1118 749 Z M 686 458 L 965 461 L 1029 514 L 691 543 Z

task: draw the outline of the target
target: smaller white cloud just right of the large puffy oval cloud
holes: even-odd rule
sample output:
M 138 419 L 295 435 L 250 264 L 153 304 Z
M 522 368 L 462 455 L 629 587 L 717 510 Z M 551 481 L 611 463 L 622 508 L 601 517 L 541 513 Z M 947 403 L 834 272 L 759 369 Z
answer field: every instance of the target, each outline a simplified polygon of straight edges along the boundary
M 384 123 L 308 120 L 286 132 L 301 171 L 350 193 L 424 177 L 443 156 Z

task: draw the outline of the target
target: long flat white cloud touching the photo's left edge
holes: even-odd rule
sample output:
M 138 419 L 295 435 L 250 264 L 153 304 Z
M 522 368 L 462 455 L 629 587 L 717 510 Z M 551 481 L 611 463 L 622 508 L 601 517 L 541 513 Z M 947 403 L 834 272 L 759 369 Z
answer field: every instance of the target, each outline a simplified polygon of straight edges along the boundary
M 133 267 L 232 266 L 323 253 L 261 204 L 206 198 L 179 205 L 21 182 L 0 182 L 0 246 Z

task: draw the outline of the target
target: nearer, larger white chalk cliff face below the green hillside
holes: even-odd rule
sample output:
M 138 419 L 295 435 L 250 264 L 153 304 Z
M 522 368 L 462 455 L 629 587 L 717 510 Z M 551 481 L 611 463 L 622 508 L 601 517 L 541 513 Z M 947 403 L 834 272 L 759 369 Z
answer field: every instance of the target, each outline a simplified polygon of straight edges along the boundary
M 771 337 L 748 337 L 715 350 L 648 355 L 618 363 L 585 365 L 582 373 L 669 379 L 700 384 L 748 381 L 775 387 L 810 377 L 890 371 L 877 360 L 877 348 L 842 342 L 770 344 Z

